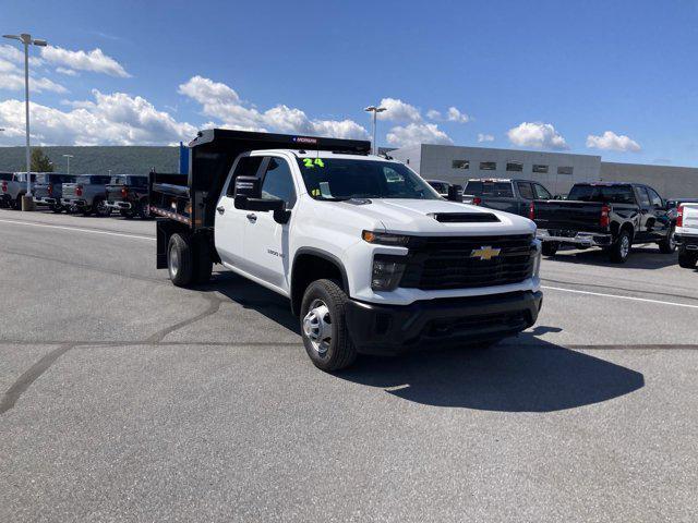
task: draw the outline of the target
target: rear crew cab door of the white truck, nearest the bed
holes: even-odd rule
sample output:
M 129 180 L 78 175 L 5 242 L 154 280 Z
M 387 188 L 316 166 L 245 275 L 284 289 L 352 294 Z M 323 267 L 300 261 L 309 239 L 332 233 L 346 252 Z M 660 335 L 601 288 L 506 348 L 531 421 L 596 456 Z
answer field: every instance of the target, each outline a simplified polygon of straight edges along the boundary
M 249 271 L 250 265 L 244 256 L 244 233 L 248 210 L 237 209 L 234 205 L 236 179 L 240 175 L 256 177 L 263 157 L 241 156 L 230 170 L 228 181 L 216 205 L 214 238 L 216 251 L 224 264 Z

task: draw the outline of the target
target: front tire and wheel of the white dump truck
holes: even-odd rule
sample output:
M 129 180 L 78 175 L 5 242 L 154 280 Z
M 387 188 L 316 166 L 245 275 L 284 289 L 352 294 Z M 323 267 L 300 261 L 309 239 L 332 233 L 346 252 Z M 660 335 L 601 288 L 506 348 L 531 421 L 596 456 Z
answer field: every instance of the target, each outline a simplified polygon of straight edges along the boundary
M 305 352 L 317 368 L 328 373 L 346 368 L 357 358 L 357 349 L 353 346 L 347 329 L 345 315 L 347 301 L 347 294 L 334 280 L 313 281 L 303 294 L 300 324 Z M 310 315 L 311 306 L 315 313 L 322 311 L 323 306 L 327 311 L 322 323 L 330 332 L 330 337 L 326 337 L 320 342 L 312 340 L 311 336 L 313 332 L 321 332 L 325 329 L 314 328 L 318 317 Z M 322 335 L 316 333 L 315 336 Z M 327 339 L 329 341 L 326 341 Z

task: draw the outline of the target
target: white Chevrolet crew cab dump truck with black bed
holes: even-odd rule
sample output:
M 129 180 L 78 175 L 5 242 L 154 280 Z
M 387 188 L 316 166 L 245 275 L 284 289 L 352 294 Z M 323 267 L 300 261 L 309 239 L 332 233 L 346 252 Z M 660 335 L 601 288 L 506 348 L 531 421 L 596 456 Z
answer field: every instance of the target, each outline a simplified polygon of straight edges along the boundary
M 218 263 L 287 296 L 318 368 L 535 323 L 527 218 L 448 202 L 369 142 L 216 129 L 190 148 L 189 174 L 151 173 L 157 268 L 189 287 Z

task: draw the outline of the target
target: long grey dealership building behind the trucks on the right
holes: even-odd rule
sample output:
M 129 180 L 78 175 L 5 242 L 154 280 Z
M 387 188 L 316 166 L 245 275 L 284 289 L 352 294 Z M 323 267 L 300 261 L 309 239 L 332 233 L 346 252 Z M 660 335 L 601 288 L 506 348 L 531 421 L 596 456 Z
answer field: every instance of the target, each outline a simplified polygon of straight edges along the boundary
M 388 154 L 426 180 L 465 184 L 469 179 L 522 178 L 541 182 L 553 194 L 566 194 L 577 182 L 639 182 L 665 197 L 698 197 L 698 168 L 691 167 L 616 163 L 593 155 L 454 145 L 421 144 Z

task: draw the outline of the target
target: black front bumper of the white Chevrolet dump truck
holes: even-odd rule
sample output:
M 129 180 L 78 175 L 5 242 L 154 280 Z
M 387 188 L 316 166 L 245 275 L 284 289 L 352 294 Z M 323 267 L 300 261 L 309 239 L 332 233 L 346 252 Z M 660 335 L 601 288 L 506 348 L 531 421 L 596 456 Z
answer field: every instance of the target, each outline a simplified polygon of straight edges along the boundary
M 535 323 L 542 302 L 540 291 L 425 300 L 410 305 L 351 300 L 346 305 L 346 320 L 360 353 L 397 354 L 516 336 Z

